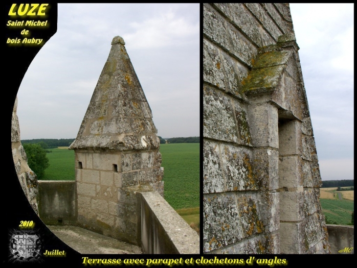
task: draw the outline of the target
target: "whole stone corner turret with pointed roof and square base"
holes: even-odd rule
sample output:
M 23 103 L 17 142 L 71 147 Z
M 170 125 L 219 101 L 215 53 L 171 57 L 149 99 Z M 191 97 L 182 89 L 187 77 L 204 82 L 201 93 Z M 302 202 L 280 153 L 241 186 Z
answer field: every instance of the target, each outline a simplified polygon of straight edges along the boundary
M 137 191 L 163 195 L 159 139 L 120 36 L 91 97 L 76 140 L 77 223 L 138 244 Z

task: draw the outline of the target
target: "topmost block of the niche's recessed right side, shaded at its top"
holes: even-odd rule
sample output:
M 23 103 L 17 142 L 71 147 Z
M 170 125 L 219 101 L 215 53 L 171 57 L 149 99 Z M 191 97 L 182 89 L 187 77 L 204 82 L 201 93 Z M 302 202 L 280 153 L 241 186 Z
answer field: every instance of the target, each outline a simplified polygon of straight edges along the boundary
M 301 123 L 279 122 L 279 155 L 301 154 Z

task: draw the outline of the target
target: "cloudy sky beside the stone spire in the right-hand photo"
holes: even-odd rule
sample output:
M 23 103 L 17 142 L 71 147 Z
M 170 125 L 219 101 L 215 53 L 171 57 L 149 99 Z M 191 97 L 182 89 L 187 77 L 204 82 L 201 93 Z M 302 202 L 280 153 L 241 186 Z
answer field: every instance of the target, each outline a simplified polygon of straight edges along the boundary
M 354 179 L 354 5 L 290 11 L 322 180 Z

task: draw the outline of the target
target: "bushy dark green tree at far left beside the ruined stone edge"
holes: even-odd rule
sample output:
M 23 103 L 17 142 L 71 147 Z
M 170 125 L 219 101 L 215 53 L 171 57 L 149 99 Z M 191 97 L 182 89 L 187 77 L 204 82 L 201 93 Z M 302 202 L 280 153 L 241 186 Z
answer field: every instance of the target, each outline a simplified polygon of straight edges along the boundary
M 37 179 L 43 179 L 45 169 L 49 167 L 45 149 L 40 144 L 24 144 L 23 148 L 27 155 L 28 166 L 36 173 Z

